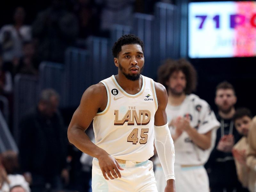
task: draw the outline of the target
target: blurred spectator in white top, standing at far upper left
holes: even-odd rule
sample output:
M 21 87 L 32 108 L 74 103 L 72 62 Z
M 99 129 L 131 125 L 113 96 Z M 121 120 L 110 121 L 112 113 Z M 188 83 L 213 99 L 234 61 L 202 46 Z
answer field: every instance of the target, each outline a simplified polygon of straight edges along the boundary
M 12 61 L 22 56 L 22 42 L 31 40 L 31 28 L 24 25 L 25 10 L 23 7 L 15 9 L 14 24 L 4 25 L 0 30 L 0 43 L 3 50 L 3 62 L 12 71 Z

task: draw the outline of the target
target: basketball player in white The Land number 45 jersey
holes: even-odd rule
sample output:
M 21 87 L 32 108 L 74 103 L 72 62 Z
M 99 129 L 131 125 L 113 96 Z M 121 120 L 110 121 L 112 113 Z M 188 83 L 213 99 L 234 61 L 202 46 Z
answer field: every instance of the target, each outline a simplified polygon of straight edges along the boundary
M 113 46 L 118 74 L 89 87 L 68 127 L 68 139 L 93 156 L 92 191 L 156 192 L 153 142 L 162 163 L 165 192 L 175 191 L 174 147 L 165 108 L 163 85 L 140 75 L 143 42 L 134 35 Z M 93 119 L 95 144 L 84 133 Z M 110 179 L 110 180 L 109 180 Z

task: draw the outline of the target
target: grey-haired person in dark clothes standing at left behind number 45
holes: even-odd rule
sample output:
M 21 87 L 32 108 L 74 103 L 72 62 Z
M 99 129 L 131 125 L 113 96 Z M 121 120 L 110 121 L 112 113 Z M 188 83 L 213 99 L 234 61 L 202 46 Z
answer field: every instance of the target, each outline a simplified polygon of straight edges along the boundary
M 33 192 L 62 189 L 68 183 L 67 133 L 58 112 L 59 94 L 43 90 L 39 102 L 20 122 L 20 165 Z M 29 175 L 32 177 L 29 178 Z

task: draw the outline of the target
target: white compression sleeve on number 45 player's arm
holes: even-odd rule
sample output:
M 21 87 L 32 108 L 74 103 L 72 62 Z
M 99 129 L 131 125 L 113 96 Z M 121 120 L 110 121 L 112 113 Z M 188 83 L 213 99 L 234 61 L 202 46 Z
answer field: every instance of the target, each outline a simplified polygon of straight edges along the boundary
M 174 145 L 168 123 L 163 126 L 155 125 L 155 146 L 164 170 L 165 180 L 173 179 L 174 177 Z

